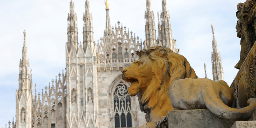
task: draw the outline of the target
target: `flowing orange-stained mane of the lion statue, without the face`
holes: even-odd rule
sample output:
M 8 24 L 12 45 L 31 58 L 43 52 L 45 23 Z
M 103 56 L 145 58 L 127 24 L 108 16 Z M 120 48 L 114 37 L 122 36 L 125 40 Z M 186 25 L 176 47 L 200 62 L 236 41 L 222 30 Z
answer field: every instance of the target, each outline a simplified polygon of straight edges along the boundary
M 150 85 L 143 94 L 138 94 L 141 111 L 144 111 L 142 105 L 147 101 L 149 102 L 148 107 L 152 108 L 157 105 L 161 108 L 164 102 L 170 101 L 168 91 L 173 81 L 185 78 L 198 78 L 187 59 L 173 52 L 170 48 L 163 48 L 161 46 L 150 47 L 148 50 L 136 51 L 136 54 L 139 58 L 149 56 L 152 61 L 157 60 L 151 67 L 152 73 L 155 75 Z M 170 80 L 167 80 L 168 83 L 165 83 L 164 79 L 169 77 Z

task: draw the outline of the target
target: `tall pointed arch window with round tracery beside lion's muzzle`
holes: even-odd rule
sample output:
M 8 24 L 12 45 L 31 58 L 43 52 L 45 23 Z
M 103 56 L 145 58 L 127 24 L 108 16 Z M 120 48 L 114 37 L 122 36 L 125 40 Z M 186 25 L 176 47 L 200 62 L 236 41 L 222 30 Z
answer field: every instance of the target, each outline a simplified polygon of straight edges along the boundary
M 115 127 L 132 127 L 131 97 L 127 85 L 120 82 L 114 89 Z

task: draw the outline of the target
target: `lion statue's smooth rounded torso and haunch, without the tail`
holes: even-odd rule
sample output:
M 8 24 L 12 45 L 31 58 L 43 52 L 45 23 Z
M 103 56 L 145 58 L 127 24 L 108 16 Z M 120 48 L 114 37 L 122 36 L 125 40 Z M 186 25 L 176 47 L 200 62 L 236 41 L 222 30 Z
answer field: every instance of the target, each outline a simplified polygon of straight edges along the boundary
M 175 110 L 206 109 L 205 102 L 214 97 L 229 107 L 234 103 L 233 92 L 225 81 L 205 78 L 176 80 L 170 85 L 169 96 Z

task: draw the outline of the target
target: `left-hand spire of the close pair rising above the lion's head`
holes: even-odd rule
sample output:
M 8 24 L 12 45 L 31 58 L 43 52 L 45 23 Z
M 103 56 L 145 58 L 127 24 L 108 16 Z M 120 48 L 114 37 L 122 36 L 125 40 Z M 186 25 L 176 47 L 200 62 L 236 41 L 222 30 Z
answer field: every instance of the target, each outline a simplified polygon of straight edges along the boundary
M 149 48 L 156 46 L 155 17 L 154 12 L 151 10 L 150 0 L 147 0 L 147 11 L 145 11 L 145 34 L 146 40 L 144 42 L 144 47 Z

